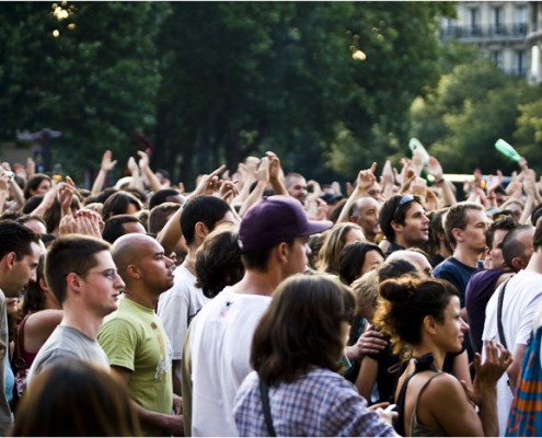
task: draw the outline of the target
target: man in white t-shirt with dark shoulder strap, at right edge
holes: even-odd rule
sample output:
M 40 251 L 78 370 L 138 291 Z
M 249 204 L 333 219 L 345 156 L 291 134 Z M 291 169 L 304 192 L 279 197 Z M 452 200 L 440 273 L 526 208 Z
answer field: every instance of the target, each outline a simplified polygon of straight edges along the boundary
M 505 344 L 512 353 L 514 362 L 497 382 L 497 413 L 499 434 L 506 431 L 510 405 L 516 392 L 521 362 L 527 344 L 532 335 L 532 320 L 537 307 L 542 302 L 542 222 L 539 222 L 533 238 L 533 254 L 524 270 L 498 287 L 489 299 L 485 311 L 483 341 Z M 498 301 L 504 290 L 501 324 L 504 337 L 498 333 Z

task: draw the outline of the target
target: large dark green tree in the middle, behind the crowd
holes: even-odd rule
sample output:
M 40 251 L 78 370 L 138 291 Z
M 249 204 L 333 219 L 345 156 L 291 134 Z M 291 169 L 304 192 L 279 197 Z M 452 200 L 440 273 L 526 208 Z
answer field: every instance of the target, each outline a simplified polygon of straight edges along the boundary
M 407 141 L 411 102 L 439 78 L 436 16 L 449 12 L 430 2 L 171 8 L 159 162 L 187 175 L 270 149 L 311 177 L 355 174 Z

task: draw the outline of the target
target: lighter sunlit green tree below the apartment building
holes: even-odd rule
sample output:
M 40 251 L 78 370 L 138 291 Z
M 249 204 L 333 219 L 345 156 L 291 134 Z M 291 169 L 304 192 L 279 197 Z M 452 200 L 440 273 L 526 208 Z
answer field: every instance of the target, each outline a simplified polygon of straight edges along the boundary
M 540 88 L 505 76 L 481 58 L 457 66 L 442 76 L 434 92 L 414 102 L 412 132 L 446 163 L 448 172 L 517 170 L 516 163 L 495 150 L 498 138 L 516 146 L 540 172 L 537 145 L 541 139 L 537 140 L 534 115 L 542 107 L 541 97 Z

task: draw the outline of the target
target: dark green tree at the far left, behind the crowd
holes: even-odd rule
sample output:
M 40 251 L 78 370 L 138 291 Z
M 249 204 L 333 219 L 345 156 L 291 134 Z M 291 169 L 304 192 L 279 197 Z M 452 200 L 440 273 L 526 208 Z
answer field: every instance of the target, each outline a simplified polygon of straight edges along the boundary
M 55 13 L 66 11 L 64 13 Z M 82 178 L 155 126 L 160 2 L 10 2 L 0 8 L 0 136 L 48 127 L 53 160 Z

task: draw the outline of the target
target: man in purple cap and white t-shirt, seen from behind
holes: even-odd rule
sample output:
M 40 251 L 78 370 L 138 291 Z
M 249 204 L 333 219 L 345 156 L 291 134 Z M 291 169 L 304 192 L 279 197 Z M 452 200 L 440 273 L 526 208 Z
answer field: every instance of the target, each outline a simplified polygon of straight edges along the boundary
M 254 330 L 280 281 L 305 269 L 308 237 L 331 227 L 309 221 L 290 196 L 266 197 L 243 217 L 244 277 L 205 306 L 191 327 L 192 436 L 238 435 L 233 400 L 252 371 Z

